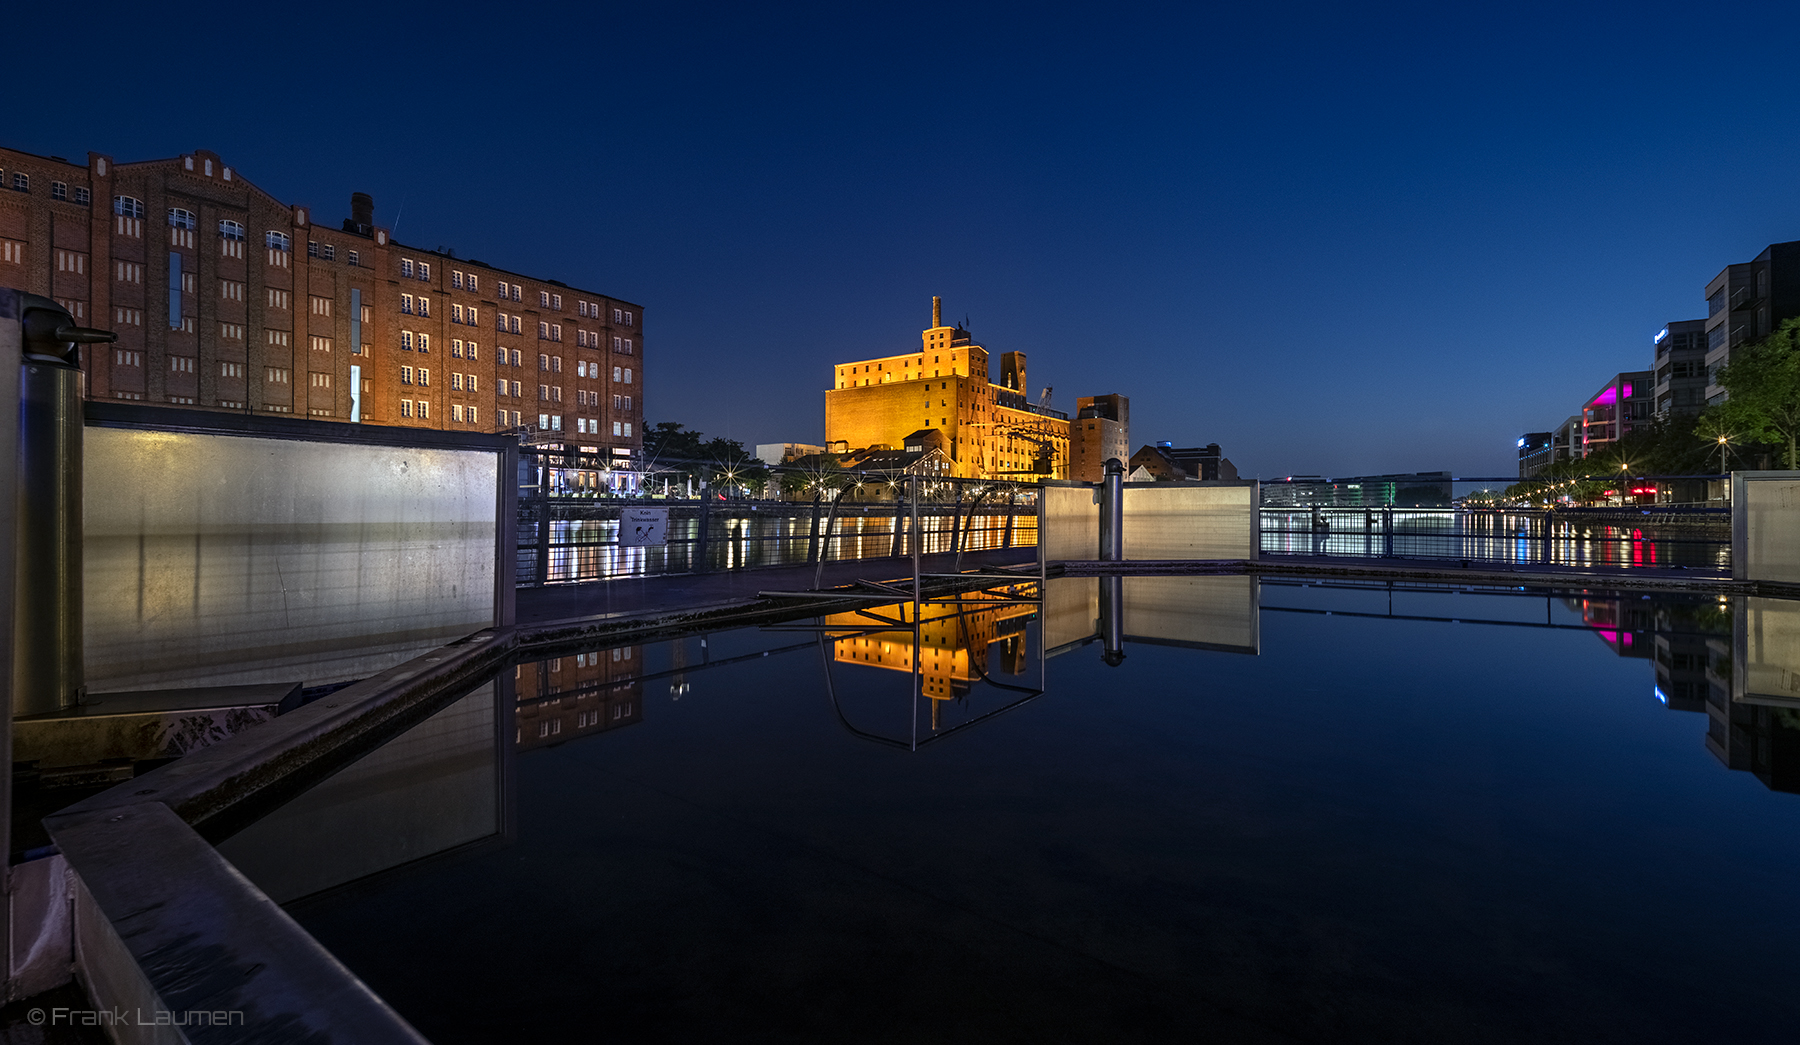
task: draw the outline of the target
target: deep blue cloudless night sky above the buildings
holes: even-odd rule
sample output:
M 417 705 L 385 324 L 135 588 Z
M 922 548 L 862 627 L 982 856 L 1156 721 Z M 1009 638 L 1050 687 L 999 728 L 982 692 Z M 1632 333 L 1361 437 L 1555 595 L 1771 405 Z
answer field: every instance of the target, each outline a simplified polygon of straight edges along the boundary
M 333 223 L 367 191 L 644 304 L 646 417 L 751 444 L 821 439 L 830 365 L 936 293 L 1134 444 L 1507 475 L 1800 237 L 1793 5 L 144 11 L 11 11 L 113 36 L 11 49 L 0 140 L 211 147 Z

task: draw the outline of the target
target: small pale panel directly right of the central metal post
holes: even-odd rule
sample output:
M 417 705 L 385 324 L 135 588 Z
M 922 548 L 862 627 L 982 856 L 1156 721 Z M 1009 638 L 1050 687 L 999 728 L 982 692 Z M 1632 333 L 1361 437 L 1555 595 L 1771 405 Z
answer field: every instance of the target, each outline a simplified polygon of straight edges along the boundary
M 1127 559 L 1255 559 L 1255 482 L 1125 484 Z

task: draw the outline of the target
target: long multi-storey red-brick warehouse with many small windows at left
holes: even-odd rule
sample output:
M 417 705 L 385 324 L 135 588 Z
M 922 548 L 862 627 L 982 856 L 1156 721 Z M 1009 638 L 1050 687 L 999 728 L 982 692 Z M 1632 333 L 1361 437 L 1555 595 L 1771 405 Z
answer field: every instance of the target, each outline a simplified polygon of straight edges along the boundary
M 119 333 L 94 399 L 643 446 L 639 304 L 398 243 L 362 192 L 320 223 L 205 149 L 0 149 L 0 284 Z

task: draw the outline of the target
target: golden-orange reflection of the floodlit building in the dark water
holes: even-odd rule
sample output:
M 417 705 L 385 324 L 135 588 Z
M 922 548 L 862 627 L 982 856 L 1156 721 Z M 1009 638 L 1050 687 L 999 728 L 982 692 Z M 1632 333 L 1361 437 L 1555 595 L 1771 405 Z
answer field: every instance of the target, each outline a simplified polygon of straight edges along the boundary
M 976 601 L 986 592 L 965 595 Z M 994 599 L 994 608 L 970 608 L 954 603 L 927 603 L 920 608 L 918 671 L 920 687 L 931 698 L 931 727 L 938 728 L 938 701 L 954 700 L 968 691 L 968 683 L 986 671 L 988 649 L 1001 648 L 1001 671 L 1024 674 L 1024 622 L 1037 613 L 1035 603 Z M 895 606 L 907 622 L 907 631 L 882 631 L 839 639 L 832 644 L 832 658 L 839 664 L 862 664 L 887 671 L 913 671 L 913 603 Z M 860 613 L 833 613 L 826 626 L 868 628 Z M 979 669 L 979 671 L 977 671 Z

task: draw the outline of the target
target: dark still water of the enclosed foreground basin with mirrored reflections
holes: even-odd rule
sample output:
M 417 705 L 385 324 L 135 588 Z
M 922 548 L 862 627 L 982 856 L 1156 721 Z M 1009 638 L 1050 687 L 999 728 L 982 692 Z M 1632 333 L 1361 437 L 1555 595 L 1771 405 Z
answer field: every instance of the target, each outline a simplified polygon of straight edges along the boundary
M 520 665 L 227 854 L 468 842 L 290 907 L 439 1043 L 1793 1040 L 1787 604 L 1129 579 L 1109 667 L 1098 586 L 927 612 L 945 700 L 909 617 Z

